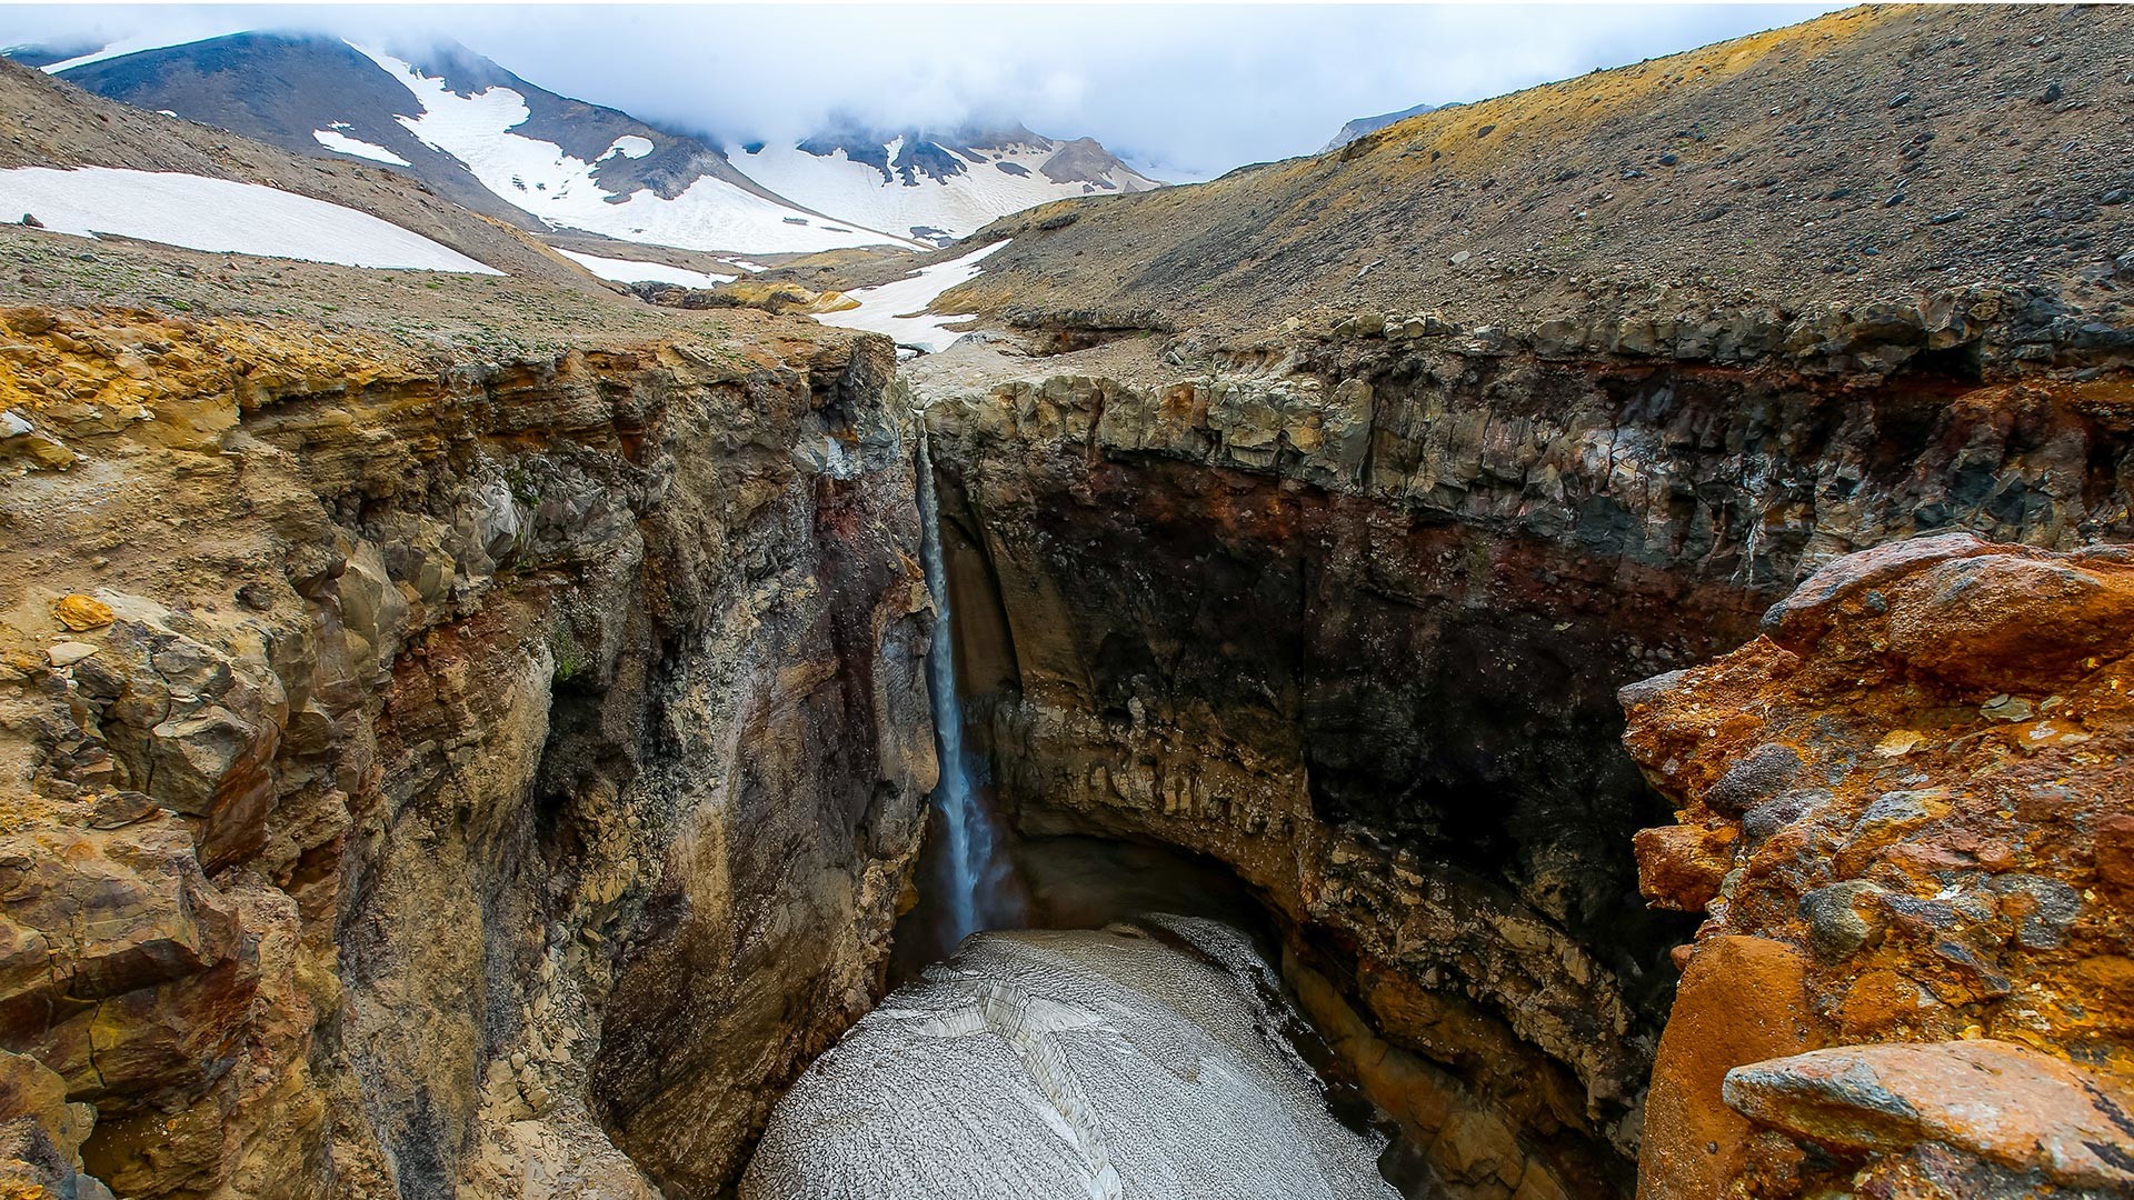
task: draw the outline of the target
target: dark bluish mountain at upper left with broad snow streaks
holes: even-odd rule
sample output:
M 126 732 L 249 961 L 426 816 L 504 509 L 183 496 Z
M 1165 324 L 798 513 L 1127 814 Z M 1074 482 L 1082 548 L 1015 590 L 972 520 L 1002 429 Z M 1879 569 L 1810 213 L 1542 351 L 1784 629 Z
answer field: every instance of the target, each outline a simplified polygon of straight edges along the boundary
M 397 58 L 250 32 L 62 77 L 284 149 L 405 169 L 523 228 L 751 252 L 896 241 L 779 199 L 698 139 L 557 96 L 461 47 Z

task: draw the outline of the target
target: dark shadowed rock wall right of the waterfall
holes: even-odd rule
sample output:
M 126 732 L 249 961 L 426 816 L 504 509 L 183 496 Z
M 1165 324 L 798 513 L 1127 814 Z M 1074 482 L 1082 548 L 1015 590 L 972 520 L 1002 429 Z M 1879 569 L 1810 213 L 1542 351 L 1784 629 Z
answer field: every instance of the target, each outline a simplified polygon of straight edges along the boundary
M 1413 1057 L 1381 1083 L 1443 1183 L 1628 1189 L 1684 927 L 1635 893 L 1665 805 L 1613 690 L 1854 547 L 2130 532 L 2117 384 L 1904 361 L 1372 327 L 920 374 L 1001 799 L 1259 888 L 1357 1053 Z

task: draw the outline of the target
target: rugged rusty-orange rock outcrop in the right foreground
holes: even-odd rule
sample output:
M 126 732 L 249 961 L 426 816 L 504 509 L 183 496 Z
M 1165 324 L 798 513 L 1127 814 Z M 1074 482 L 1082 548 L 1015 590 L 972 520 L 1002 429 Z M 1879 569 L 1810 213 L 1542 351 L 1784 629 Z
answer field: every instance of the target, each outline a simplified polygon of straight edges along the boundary
M 1624 692 L 1679 805 L 1639 837 L 1645 890 L 1705 916 L 1650 1194 L 2134 1183 L 2130 649 L 2125 549 L 1946 534 L 1837 559 L 1765 636 Z

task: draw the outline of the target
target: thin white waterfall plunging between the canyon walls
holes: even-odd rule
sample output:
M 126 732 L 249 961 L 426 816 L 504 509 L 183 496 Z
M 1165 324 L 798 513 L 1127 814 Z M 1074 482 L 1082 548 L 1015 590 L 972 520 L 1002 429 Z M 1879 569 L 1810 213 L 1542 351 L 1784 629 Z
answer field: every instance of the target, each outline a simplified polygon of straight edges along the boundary
M 935 745 L 941 752 L 941 781 L 933 803 L 941 809 L 941 888 L 935 920 L 943 950 L 954 950 L 980 929 L 1020 925 L 1020 903 L 1009 886 L 1001 835 L 986 809 L 971 758 L 962 747 L 962 698 L 956 694 L 956 638 L 950 619 L 947 564 L 941 553 L 941 504 L 935 493 L 933 453 L 920 429 L 920 559 L 926 591 L 935 602 L 935 636 L 926 656 L 926 685 L 933 692 Z

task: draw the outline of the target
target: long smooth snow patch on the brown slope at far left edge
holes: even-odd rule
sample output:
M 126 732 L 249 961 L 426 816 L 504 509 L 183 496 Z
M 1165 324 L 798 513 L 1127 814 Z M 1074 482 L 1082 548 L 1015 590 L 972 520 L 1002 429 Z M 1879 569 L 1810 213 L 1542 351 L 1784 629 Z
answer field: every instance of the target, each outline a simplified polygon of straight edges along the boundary
M 188 250 L 307 258 L 344 267 L 501 275 L 418 233 L 260 184 L 120 167 L 0 171 L 0 220 L 34 216 L 53 233 L 139 237 Z

